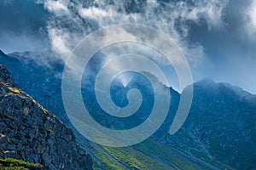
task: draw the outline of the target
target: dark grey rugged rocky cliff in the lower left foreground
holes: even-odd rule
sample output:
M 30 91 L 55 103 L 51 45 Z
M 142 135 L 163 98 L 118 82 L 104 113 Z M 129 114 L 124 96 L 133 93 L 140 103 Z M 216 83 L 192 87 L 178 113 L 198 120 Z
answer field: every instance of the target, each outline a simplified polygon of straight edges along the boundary
M 92 169 L 90 155 L 72 130 L 15 88 L 0 65 L 0 158 L 7 157 L 40 163 L 44 169 Z

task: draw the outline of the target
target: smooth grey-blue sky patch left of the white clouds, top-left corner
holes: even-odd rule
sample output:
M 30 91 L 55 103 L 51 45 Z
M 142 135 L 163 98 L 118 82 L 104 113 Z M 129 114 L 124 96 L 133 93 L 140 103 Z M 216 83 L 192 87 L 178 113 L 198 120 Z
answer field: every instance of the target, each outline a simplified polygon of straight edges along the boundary
M 33 0 L 1 0 L 0 48 L 5 53 L 45 48 L 48 13 Z

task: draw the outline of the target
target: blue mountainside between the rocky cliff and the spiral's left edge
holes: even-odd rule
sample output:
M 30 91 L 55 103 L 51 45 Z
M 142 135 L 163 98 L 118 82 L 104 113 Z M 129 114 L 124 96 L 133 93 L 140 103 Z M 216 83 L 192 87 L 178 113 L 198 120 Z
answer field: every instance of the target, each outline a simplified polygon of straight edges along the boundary
M 37 58 L 29 58 L 34 53 L 4 54 L 0 50 L 0 64 L 5 65 L 12 73 L 15 82 L 20 88 L 32 95 L 44 108 L 55 113 L 62 122 L 67 122 L 67 117 L 58 115 L 64 112 L 61 102 L 61 70 L 63 65 L 52 62 L 44 65 L 37 62 L 47 54 L 37 53 Z M 40 55 L 39 55 L 40 54 Z M 53 95 L 55 94 L 55 95 Z

